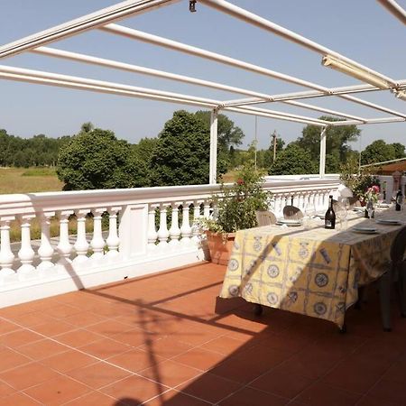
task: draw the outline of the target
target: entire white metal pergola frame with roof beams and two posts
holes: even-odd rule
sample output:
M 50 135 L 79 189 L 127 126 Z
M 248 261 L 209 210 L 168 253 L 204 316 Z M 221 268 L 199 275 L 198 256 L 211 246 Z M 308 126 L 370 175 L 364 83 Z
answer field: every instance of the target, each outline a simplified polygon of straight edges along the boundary
M 355 60 L 350 60 L 344 55 L 332 51 L 317 42 L 312 42 L 308 38 L 281 27 L 263 17 L 250 13 L 245 9 L 233 5 L 226 0 L 198 0 L 199 5 L 207 5 L 215 8 L 220 12 L 230 14 L 235 18 L 245 21 L 245 23 L 253 24 L 267 32 L 280 35 L 285 40 L 295 42 L 310 51 L 318 52 L 323 57 L 328 56 L 336 60 L 338 66 L 336 69 L 343 71 L 350 76 L 364 81 L 362 85 L 346 86 L 341 88 L 326 88 L 317 83 L 309 82 L 301 78 L 292 77 L 281 72 L 267 69 L 244 60 L 236 60 L 216 52 L 203 50 L 185 43 L 175 42 L 166 38 L 152 35 L 147 32 L 140 32 L 115 22 L 123 20 L 135 14 L 141 14 L 152 11 L 156 8 L 178 3 L 180 0 L 126 0 L 110 7 L 106 7 L 92 14 L 86 14 L 78 19 L 71 20 L 68 23 L 63 23 L 54 26 L 48 30 L 34 33 L 28 37 L 24 37 L 15 42 L 7 43 L 0 47 L 0 59 L 12 57 L 23 52 L 34 52 L 48 57 L 75 60 L 88 64 L 94 64 L 112 69 L 121 69 L 134 73 L 141 73 L 158 78 L 167 78 L 192 85 L 198 85 L 206 88 L 215 88 L 225 90 L 240 95 L 245 98 L 234 100 L 215 100 L 204 97 L 195 97 L 183 95 L 179 93 L 167 92 L 151 88 L 139 88 L 129 85 L 123 85 L 114 82 L 103 80 L 95 80 L 90 78 L 78 78 L 69 75 L 61 75 L 33 69 L 23 69 L 0 65 L 0 78 L 31 82 L 42 85 L 76 88 L 80 90 L 95 91 L 100 93 L 110 93 L 126 97 L 143 97 L 152 100 L 161 100 L 171 103 L 179 103 L 183 105 L 204 107 L 211 110 L 210 118 L 210 171 L 209 183 L 215 184 L 217 181 L 217 115 L 220 110 L 230 111 L 245 115 L 259 115 L 278 120 L 292 121 L 301 124 L 317 125 L 320 127 L 320 161 L 319 175 L 325 176 L 326 165 L 326 130 L 328 126 L 336 125 L 372 125 L 382 123 L 397 123 L 406 121 L 406 113 L 401 113 L 385 106 L 380 106 L 368 102 L 362 98 L 354 97 L 353 94 L 364 93 L 371 91 L 392 91 L 397 97 L 406 100 L 406 79 L 392 79 L 384 76 L 380 72 L 369 69 Z M 189 3 L 189 0 L 183 0 Z M 388 8 L 392 14 L 406 22 L 406 12 L 401 9 L 400 5 L 394 0 L 377 0 L 379 3 Z M 106 60 L 97 58 L 91 55 L 85 55 L 71 51 L 61 51 L 59 49 L 47 47 L 51 42 L 57 42 L 73 35 L 78 35 L 89 30 L 102 30 L 104 32 L 113 33 L 115 35 L 125 36 L 132 40 L 148 42 L 156 46 L 169 48 L 171 50 L 180 51 L 189 55 L 214 60 L 228 66 L 245 69 L 269 78 L 278 78 L 280 80 L 299 85 L 310 90 L 285 93 L 281 95 L 263 94 L 251 89 L 236 88 L 223 83 L 217 83 L 201 78 L 192 78 L 184 75 L 179 75 L 171 72 L 166 72 L 158 69 L 150 69 L 137 65 L 132 65 L 117 60 Z M 300 99 L 314 97 L 340 97 L 352 103 L 367 106 L 384 113 L 389 116 L 383 118 L 364 118 L 357 115 L 350 115 L 344 112 L 331 110 L 324 107 L 313 106 L 307 103 L 302 103 Z M 275 111 L 268 108 L 261 108 L 258 104 L 280 102 L 290 106 L 299 106 L 309 110 L 327 113 L 343 117 L 344 120 L 329 122 L 316 118 L 311 118 L 303 115 L 293 115 Z

